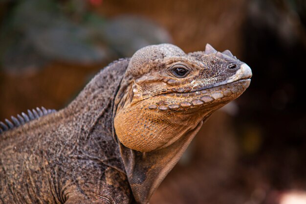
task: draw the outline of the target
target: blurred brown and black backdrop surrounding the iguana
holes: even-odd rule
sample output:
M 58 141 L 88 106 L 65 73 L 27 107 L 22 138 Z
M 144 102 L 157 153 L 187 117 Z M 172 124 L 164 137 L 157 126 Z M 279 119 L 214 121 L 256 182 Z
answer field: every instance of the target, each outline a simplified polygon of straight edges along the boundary
M 151 204 L 305 204 L 305 0 L 0 0 L 0 121 L 61 109 L 111 61 L 160 43 L 229 49 L 253 77 Z

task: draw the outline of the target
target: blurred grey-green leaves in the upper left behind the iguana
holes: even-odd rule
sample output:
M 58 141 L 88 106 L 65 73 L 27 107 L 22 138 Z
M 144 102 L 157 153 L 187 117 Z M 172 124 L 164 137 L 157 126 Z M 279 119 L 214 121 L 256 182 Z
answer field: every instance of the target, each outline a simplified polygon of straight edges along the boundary
M 2 3 L 7 12 L 0 25 L 1 67 L 24 73 L 51 60 L 87 65 L 171 42 L 169 34 L 149 20 L 136 16 L 107 20 L 95 14 L 90 3 L 94 5 L 85 0 Z

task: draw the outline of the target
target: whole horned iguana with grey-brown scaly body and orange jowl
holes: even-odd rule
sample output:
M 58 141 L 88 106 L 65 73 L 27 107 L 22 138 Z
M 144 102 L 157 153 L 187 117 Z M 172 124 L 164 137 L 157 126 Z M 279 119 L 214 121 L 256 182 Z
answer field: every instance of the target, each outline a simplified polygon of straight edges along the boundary
M 109 64 L 66 108 L 0 124 L 0 203 L 147 204 L 203 122 L 251 76 L 211 45 L 188 54 L 150 45 Z

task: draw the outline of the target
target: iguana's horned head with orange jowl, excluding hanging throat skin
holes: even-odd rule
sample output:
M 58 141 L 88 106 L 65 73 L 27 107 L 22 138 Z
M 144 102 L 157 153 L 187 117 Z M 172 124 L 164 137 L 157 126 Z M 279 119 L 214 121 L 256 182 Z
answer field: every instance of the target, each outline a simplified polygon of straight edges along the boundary
M 194 130 L 213 111 L 246 90 L 251 69 L 228 50 L 184 53 L 151 45 L 131 58 L 114 126 L 126 147 L 151 152 Z

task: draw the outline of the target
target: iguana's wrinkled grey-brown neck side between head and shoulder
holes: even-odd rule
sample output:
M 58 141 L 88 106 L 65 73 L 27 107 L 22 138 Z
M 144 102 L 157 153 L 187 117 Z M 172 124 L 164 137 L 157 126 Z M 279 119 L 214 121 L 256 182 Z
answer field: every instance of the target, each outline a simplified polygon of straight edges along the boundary
M 73 117 L 70 125 L 78 141 L 76 151 L 85 152 L 124 173 L 113 137 L 112 109 L 128 63 L 129 59 L 121 59 L 105 67 L 64 110 L 68 117 Z

